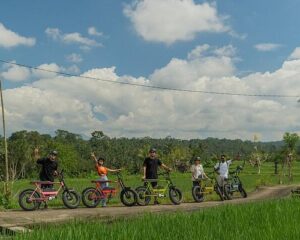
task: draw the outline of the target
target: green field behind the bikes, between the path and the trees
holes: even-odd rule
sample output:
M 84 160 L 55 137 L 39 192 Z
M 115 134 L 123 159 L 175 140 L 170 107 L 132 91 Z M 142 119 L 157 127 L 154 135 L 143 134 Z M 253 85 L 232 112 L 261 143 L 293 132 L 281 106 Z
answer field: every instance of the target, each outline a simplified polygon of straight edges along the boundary
M 234 164 L 230 167 L 231 170 L 234 170 L 238 164 L 242 164 L 241 162 L 234 162 Z M 206 168 L 206 172 L 211 172 L 212 168 Z M 248 192 L 253 191 L 258 186 L 263 185 L 275 185 L 279 183 L 279 175 L 274 175 L 274 164 L 273 163 L 264 163 L 261 169 L 261 174 L 257 174 L 256 168 L 253 168 L 249 164 L 246 164 L 244 170 L 240 174 L 243 184 Z M 300 183 L 300 162 L 296 162 L 293 169 L 293 183 Z M 116 177 L 113 174 L 109 175 L 109 179 L 114 180 Z M 182 190 L 184 195 L 185 202 L 193 201 L 191 195 L 191 174 L 190 173 L 172 173 L 171 178 L 175 185 Z M 87 179 L 74 179 L 67 178 L 66 183 L 69 187 L 74 188 L 78 192 L 82 192 L 82 190 L 86 187 L 93 186 L 91 180 L 97 179 L 97 176 L 91 176 Z M 283 178 L 283 183 L 288 184 L 289 181 L 287 177 Z M 141 176 L 140 175 L 124 175 L 124 181 L 126 185 L 131 186 L 133 188 L 142 185 Z M 26 188 L 32 188 L 33 186 L 29 184 L 30 180 L 20 180 L 16 181 L 12 185 L 12 203 L 11 207 L 14 209 L 18 209 L 18 195 L 19 193 Z M 217 200 L 218 197 L 215 194 L 208 195 L 206 200 Z M 161 199 L 161 202 L 167 203 L 168 199 Z M 110 205 L 120 205 L 120 200 L 118 197 L 113 198 Z M 62 201 L 60 198 L 52 200 L 49 202 L 49 207 L 63 207 Z

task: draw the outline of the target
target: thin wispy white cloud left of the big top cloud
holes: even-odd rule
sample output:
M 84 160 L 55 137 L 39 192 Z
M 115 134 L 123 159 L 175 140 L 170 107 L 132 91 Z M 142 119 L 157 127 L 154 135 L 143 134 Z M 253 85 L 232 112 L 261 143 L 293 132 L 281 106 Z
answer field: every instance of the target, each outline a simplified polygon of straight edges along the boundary
M 85 48 L 101 47 L 102 44 L 93 39 L 83 37 L 80 33 L 62 33 L 58 28 L 47 28 L 45 33 L 55 41 L 65 44 L 80 44 Z

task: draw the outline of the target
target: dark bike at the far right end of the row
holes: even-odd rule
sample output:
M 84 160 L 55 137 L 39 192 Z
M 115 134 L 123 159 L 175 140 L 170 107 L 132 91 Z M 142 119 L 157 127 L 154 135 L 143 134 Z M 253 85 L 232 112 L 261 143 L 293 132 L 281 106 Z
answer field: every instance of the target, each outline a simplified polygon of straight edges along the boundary
M 239 173 L 243 170 L 245 165 L 245 161 L 243 166 L 237 166 L 235 171 L 229 172 L 229 174 L 233 175 L 232 178 L 229 178 L 224 184 L 224 194 L 227 200 L 231 200 L 234 192 L 240 192 L 243 198 L 246 198 L 247 192 L 243 187 L 242 181 L 239 178 Z

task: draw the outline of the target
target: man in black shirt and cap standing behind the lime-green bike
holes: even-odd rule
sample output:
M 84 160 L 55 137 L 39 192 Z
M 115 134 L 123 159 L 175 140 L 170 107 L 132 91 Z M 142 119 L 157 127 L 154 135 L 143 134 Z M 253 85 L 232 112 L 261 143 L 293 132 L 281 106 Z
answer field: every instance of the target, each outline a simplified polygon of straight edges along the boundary
M 172 169 L 163 164 L 160 159 L 156 156 L 156 149 L 151 148 L 149 150 L 149 157 L 145 158 L 143 169 L 144 169 L 144 176 L 143 179 L 157 179 L 157 170 L 158 167 L 162 167 L 167 171 L 171 171 Z M 152 187 L 157 186 L 157 182 L 151 182 Z M 158 204 L 157 197 L 154 199 L 154 204 Z

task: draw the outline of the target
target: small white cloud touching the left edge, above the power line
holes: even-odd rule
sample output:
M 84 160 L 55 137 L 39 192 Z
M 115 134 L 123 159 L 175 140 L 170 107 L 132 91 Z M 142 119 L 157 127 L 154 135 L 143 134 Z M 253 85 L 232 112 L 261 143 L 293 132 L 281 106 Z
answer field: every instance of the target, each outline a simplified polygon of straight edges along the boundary
M 12 48 L 20 45 L 32 47 L 35 45 L 35 42 L 35 38 L 20 36 L 0 23 L 0 47 Z

